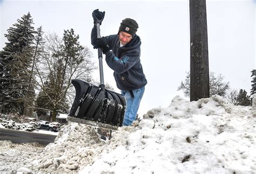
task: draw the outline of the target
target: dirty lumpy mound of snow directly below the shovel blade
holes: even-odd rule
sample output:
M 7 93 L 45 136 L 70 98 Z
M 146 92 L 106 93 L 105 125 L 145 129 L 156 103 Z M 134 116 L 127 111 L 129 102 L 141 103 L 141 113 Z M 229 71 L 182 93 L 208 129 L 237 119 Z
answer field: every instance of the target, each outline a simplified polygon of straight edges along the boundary
M 54 143 L 48 144 L 42 153 L 24 162 L 26 168 L 17 171 L 71 173 L 92 163 L 103 146 L 96 129 L 76 123 L 63 126 Z

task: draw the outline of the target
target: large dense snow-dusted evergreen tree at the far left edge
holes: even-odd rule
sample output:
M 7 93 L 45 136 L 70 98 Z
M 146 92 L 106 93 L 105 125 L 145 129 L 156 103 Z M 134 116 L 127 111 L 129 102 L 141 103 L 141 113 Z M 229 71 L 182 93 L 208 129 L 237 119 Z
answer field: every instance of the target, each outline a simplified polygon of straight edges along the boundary
M 0 96 L 2 113 L 16 112 L 23 114 L 26 93 L 33 92 L 29 88 L 33 53 L 33 20 L 30 13 L 25 14 L 10 27 L 6 46 L 0 52 Z

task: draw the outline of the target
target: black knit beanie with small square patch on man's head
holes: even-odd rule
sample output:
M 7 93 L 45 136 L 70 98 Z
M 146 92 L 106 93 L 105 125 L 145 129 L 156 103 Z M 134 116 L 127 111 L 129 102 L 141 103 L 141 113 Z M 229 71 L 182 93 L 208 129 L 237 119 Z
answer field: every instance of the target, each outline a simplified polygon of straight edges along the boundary
M 122 23 L 119 27 L 118 34 L 120 31 L 123 31 L 125 33 L 131 34 L 132 37 L 134 37 L 134 35 L 137 32 L 138 27 L 139 26 L 135 20 L 133 20 L 131 18 L 126 18 L 126 19 L 122 20 Z

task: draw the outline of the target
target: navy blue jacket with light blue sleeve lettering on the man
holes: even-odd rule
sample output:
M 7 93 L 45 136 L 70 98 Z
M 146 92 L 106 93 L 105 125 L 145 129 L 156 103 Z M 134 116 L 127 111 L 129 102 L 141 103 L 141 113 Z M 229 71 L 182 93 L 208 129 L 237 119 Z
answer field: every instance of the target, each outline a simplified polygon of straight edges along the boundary
M 97 28 L 94 26 L 91 33 L 91 44 L 94 46 L 97 39 Z M 135 90 L 147 84 L 140 63 L 140 45 L 138 35 L 124 47 L 120 47 L 118 34 L 102 37 L 111 50 L 105 53 L 107 65 L 114 70 L 117 88 L 120 90 Z

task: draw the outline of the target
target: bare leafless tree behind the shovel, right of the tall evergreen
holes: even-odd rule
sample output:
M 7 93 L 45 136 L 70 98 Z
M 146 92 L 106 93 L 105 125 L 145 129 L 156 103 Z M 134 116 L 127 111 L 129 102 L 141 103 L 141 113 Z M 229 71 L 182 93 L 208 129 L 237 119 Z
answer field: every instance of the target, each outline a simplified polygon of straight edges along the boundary
M 71 88 L 71 79 L 90 81 L 91 71 L 96 69 L 89 48 L 79 46 L 76 54 L 66 56 L 62 54 L 65 44 L 58 35 L 49 33 L 45 36 L 42 54 L 35 64 L 35 81 L 40 91 L 37 98 L 45 102 L 45 109 L 52 111 L 53 121 L 58 111 L 68 111 L 72 104 L 75 91 Z

